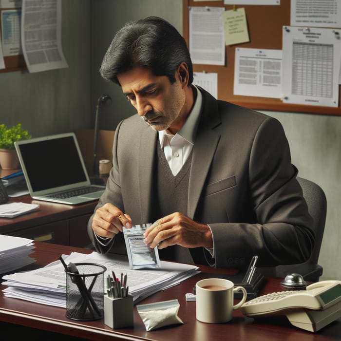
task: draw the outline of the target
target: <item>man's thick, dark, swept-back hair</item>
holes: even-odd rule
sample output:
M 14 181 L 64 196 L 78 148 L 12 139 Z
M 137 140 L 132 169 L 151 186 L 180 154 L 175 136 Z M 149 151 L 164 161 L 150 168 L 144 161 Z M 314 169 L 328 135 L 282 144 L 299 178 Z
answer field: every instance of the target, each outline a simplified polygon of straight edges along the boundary
M 128 22 L 114 36 L 106 52 L 100 74 L 119 84 L 117 75 L 134 67 L 147 67 L 154 76 L 167 76 L 175 82 L 175 71 L 185 62 L 190 85 L 193 66 L 185 39 L 168 21 L 148 17 Z

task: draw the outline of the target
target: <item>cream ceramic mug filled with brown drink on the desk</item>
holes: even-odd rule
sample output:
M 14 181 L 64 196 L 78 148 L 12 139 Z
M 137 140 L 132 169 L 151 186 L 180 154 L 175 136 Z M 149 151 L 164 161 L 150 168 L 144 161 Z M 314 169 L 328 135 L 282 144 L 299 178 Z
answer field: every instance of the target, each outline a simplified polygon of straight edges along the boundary
M 222 278 L 208 278 L 195 285 L 196 319 L 206 323 L 225 323 L 232 320 L 232 312 L 246 301 L 246 289 L 234 287 L 233 282 Z M 233 293 L 243 291 L 241 301 L 233 305 Z

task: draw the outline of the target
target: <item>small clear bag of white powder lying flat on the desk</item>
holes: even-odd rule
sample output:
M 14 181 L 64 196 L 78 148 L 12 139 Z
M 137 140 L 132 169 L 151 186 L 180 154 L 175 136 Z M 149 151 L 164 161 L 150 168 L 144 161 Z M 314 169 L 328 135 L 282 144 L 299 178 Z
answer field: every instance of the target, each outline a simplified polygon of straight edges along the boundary
M 147 331 L 171 324 L 184 323 L 178 317 L 179 307 L 178 300 L 136 305 Z

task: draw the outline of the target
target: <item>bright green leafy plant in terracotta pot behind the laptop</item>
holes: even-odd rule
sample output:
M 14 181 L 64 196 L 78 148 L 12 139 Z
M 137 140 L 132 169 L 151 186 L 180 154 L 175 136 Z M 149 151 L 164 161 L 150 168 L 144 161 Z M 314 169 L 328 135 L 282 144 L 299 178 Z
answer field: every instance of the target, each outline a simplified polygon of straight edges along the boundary
M 14 142 L 27 140 L 32 136 L 27 130 L 21 128 L 21 124 L 7 128 L 0 124 L 0 167 L 4 170 L 19 168 L 19 159 L 15 150 Z

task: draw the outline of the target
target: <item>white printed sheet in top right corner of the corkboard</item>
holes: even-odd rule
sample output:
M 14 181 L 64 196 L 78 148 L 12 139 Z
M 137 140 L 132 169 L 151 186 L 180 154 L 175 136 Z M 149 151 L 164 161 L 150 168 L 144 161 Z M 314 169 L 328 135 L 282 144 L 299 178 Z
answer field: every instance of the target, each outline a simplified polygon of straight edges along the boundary
M 341 28 L 341 0 L 291 0 L 290 25 Z

